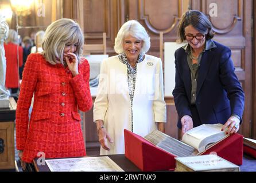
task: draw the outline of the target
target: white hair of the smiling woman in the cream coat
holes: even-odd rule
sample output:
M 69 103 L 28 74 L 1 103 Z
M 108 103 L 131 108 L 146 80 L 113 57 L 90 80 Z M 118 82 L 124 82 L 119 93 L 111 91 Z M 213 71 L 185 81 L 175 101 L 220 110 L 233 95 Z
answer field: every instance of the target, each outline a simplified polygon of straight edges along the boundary
M 125 37 L 131 35 L 140 41 L 143 41 L 143 46 L 141 49 L 141 55 L 144 55 L 150 48 L 150 37 L 145 30 L 145 28 L 135 20 L 130 20 L 125 22 L 121 29 L 118 31 L 117 37 L 115 38 L 115 52 L 121 54 L 124 52 L 123 50 L 123 41 Z

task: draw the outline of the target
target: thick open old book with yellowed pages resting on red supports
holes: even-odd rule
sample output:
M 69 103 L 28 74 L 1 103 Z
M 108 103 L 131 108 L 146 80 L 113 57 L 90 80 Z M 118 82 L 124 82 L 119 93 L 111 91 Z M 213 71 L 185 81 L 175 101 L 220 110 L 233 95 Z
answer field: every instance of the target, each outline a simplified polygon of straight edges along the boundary
M 181 141 L 158 130 L 154 130 L 144 138 L 177 157 L 197 156 L 228 137 L 226 131 L 221 130 L 222 126 L 222 124 L 197 126 L 188 130 Z

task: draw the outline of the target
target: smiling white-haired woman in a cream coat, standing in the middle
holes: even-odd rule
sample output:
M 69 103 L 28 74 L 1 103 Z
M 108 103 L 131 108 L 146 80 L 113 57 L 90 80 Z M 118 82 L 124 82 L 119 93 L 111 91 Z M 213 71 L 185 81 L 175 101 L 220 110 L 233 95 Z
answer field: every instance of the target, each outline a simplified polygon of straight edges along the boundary
M 150 38 L 137 21 L 123 24 L 115 38 L 119 54 L 101 65 L 94 103 L 100 154 L 124 154 L 123 130 L 146 136 L 164 132 L 166 104 L 160 58 L 146 55 Z

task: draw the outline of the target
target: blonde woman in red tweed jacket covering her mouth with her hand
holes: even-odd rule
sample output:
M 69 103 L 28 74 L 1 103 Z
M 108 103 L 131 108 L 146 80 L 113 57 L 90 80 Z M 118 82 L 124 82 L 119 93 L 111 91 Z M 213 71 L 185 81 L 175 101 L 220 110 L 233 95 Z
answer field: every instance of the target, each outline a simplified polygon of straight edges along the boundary
M 86 156 L 78 109 L 89 110 L 92 98 L 89 64 L 80 57 L 83 42 L 76 22 L 59 19 L 46 29 L 43 53 L 30 54 L 26 61 L 16 112 L 23 169 L 41 154 L 46 158 Z

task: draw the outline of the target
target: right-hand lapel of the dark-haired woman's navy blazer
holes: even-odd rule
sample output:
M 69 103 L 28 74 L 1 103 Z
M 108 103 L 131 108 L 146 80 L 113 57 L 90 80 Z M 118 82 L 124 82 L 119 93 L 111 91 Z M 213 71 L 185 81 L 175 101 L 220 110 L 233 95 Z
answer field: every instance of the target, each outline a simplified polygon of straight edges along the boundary
M 205 53 L 202 55 L 199 71 L 198 71 L 199 73 L 197 77 L 196 96 L 200 92 L 204 79 L 208 73 L 208 70 L 210 69 L 213 57 L 214 57 L 214 53 L 211 50 L 205 51 Z

